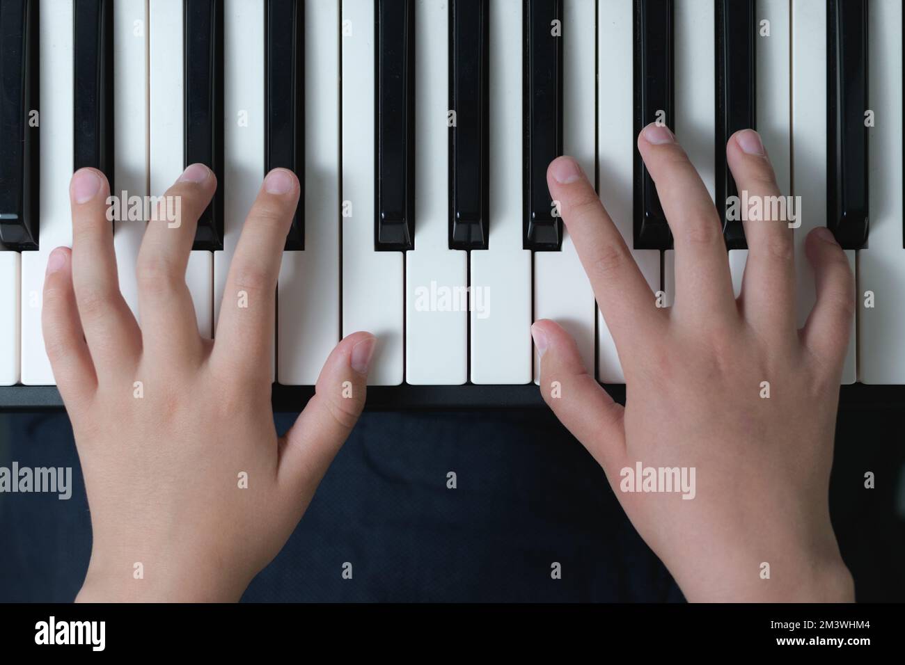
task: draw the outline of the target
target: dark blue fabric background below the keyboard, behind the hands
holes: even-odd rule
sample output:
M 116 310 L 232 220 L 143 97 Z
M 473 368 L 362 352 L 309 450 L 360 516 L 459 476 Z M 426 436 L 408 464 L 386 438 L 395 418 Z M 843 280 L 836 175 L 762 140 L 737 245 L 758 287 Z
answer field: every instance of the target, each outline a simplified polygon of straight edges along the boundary
M 894 415 L 894 414 L 893 414 Z M 860 600 L 905 600 L 902 428 L 840 423 L 831 508 Z M 284 431 L 292 421 L 277 416 Z M 859 426 L 859 423 L 861 425 Z M 846 429 L 848 428 L 848 429 Z M 0 465 L 72 466 L 72 499 L 0 494 L 0 602 L 71 601 L 90 516 L 63 413 L 0 415 Z M 878 489 L 862 489 L 863 470 Z M 446 489 L 455 471 L 458 489 Z M 898 496 L 898 493 L 901 496 Z M 898 506 L 898 508 L 897 508 Z M 343 580 L 341 566 L 354 566 Z M 562 564 L 560 580 L 550 564 Z M 681 601 L 590 455 L 545 411 L 366 413 L 280 556 L 266 602 Z

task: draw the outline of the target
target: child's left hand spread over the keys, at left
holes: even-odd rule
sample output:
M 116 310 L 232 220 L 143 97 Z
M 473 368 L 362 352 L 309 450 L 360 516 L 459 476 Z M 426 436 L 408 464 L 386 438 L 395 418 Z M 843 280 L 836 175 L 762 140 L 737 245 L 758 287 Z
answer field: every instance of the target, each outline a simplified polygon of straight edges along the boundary
M 365 402 L 375 338 L 356 333 L 291 430 L 274 431 L 275 291 L 299 199 L 291 171 L 267 176 L 233 258 L 226 293 L 246 291 L 247 308 L 224 304 L 216 339 L 200 337 L 186 262 L 215 188 L 209 169 L 189 166 L 167 191 L 181 197 L 181 224 L 148 224 L 139 330 L 119 293 L 110 186 L 94 169 L 72 178 L 72 250 L 48 261 L 43 331 L 91 511 L 78 600 L 237 600 L 298 524 Z

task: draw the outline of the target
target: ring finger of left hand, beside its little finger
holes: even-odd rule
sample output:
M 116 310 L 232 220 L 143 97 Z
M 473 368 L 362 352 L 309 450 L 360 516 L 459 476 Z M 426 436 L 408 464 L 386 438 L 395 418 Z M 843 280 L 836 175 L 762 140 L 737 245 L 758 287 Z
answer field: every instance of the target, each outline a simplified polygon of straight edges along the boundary
M 72 286 L 101 376 L 129 372 L 141 352 L 138 323 L 119 292 L 109 195 L 107 178 L 97 169 L 81 168 L 72 176 Z

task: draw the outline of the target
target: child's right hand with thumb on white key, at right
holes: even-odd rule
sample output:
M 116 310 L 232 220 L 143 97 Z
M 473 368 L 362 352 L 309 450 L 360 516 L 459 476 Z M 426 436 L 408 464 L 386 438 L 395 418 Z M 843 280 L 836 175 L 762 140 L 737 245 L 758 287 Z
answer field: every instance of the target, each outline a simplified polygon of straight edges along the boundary
M 552 321 L 532 328 L 544 398 L 604 467 L 689 600 L 851 601 L 827 503 L 854 309 L 848 261 L 831 233 L 810 234 L 817 300 L 798 330 L 792 231 L 784 221 L 746 222 L 737 301 L 719 217 L 688 157 L 665 128 L 645 128 L 638 148 L 675 239 L 675 305 L 655 306 L 592 185 L 574 160 L 558 158 L 550 192 L 618 348 L 626 405 L 586 374 L 575 343 Z M 756 132 L 738 132 L 727 153 L 739 192 L 779 195 Z M 551 397 L 553 381 L 561 397 Z M 694 498 L 622 491 L 621 471 L 638 462 L 693 467 Z

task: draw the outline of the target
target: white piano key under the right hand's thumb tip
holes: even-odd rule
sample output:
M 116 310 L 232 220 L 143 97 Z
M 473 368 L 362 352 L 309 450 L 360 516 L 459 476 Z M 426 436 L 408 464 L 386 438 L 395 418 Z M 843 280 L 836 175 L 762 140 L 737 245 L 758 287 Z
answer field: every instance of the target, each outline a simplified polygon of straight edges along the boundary
M 595 150 L 595 4 L 563 5 L 563 149 L 593 179 Z M 586 370 L 594 374 L 596 305 L 591 282 L 564 230 L 560 252 L 535 252 L 534 318 L 552 318 L 575 338 Z M 540 363 L 534 364 L 534 380 Z

